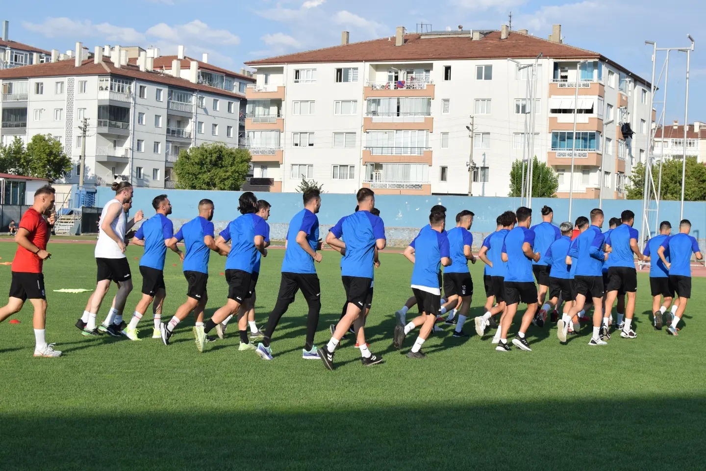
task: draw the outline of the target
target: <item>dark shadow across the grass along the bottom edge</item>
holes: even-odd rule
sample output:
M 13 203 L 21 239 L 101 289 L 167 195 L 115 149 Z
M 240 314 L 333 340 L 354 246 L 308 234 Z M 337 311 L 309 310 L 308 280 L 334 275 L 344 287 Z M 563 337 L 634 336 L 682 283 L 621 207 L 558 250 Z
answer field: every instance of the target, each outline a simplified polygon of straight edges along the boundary
M 676 408 L 668 398 L 428 400 L 284 413 L 187 412 L 187 404 L 161 414 L 4 413 L 11 433 L 0 463 L 14 471 L 703 469 L 704 398 L 681 398 Z M 678 437 L 679 453 L 656 446 L 657 437 Z

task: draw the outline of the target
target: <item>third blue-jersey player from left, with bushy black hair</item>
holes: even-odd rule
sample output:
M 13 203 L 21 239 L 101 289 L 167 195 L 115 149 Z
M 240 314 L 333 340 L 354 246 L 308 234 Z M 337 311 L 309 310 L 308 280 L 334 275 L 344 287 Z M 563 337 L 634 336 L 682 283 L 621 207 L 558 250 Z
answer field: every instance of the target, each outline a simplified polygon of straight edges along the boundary
M 228 300 L 225 306 L 213 313 L 213 317 L 203 327 L 193 328 L 199 352 L 203 352 L 207 340 L 206 335 L 225 318 L 237 313 L 241 304 L 251 296 L 250 280 L 257 259 L 256 253 L 259 251 L 263 256 L 267 256 L 265 249 L 265 237 L 268 234 L 267 222 L 256 214 L 258 199 L 251 191 L 240 195 L 238 210 L 241 215 L 232 220 L 216 239 L 218 249 L 228 254 L 225 261 Z M 230 246 L 228 245 L 229 241 L 231 242 Z M 248 339 L 247 319 L 246 316 L 243 316 L 238 322 L 240 333 L 238 350 L 241 351 L 255 350 L 255 345 L 252 345 Z

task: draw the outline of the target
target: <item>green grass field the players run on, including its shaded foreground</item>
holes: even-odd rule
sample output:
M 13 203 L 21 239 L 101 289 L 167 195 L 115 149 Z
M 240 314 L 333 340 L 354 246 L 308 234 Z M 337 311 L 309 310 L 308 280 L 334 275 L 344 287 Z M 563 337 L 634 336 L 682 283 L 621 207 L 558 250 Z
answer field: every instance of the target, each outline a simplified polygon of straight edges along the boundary
M 15 248 L 1 243 L 2 261 Z M 614 335 L 607 347 L 592 348 L 585 328 L 560 345 L 556 327 L 533 326 L 533 352 L 503 354 L 495 352 L 492 335 L 479 339 L 470 321 L 470 338 L 434 334 L 424 345 L 429 356 L 415 361 L 391 345 L 393 313 L 410 294 L 412 266 L 402 255 L 382 254 L 367 332 L 385 363 L 364 368 L 358 350 L 343 340 L 337 369 L 328 371 L 301 359 L 301 297 L 275 332 L 273 362 L 239 352 L 234 329 L 200 354 L 193 318 L 181 323 L 169 347 L 149 338 L 150 314 L 140 325 L 142 342 L 82 337 L 73 324 L 88 293 L 52 290 L 94 287 L 93 246 L 50 243 L 49 249 L 47 340 L 64 356 L 32 358 L 30 306 L 15 317 L 20 325 L 0 325 L 2 470 L 704 469 L 705 278 L 694 279 L 678 338 L 652 328 L 647 275 L 640 274 L 636 340 Z M 141 253 L 128 249 L 137 275 L 126 321 L 140 296 L 135 258 Z M 258 324 L 274 305 L 282 254 L 270 251 L 263 261 Z M 327 251 L 318 266 L 320 346 L 343 301 L 338 261 Z M 223 264 L 212 256 L 208 316 L 225 302 Z M 10 267 L 0 270 L 6 293 Z M 481 270 L 481 263 L 472 268 L 478 294 L 472 316 L 484 303 Z M 186 292 L 172 253 L 165 279 L 166 321 Z M 100 320 L 107 309 L 109 301 Z

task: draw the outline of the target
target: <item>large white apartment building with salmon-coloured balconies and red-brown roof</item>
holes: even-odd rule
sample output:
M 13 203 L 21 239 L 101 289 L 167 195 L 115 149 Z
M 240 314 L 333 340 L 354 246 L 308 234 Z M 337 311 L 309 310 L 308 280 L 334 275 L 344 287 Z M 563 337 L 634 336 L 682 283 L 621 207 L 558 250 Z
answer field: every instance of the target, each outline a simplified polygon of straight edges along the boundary
M 647 149 L 650 85 L 563 44 L 560 25 L 549 40 L 505 26 L 397 28 L 358 43 L 343 32 L 336 47 L 246 64 L 257 69 L 246 88 L 249 188 L 260 191 L 294 191 L 304 177 L 341 193 L 505 196 L 513 161 L 534 154 L 558 172 L 558 196 L 567 196 L 573 154 L 575 197 L 602 189 L 622 198 Z

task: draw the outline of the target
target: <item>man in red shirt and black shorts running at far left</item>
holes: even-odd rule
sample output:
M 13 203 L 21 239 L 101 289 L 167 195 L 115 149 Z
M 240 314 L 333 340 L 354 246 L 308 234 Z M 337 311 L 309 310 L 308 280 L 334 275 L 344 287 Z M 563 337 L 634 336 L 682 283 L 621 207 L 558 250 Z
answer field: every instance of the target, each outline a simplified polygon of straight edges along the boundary
M 42 263 L 52 254 L 47 252 L 49 234 L 54 225 L 54 193 L 52 186 L 44 185 L 35 191 L 35 203 L 20 219 L 15 234 L 17 251 L 12 261 L 12 282 L 10 299 L 0 308 L 0 322 L 22 309 L 27 299 L 35 308 L 32 325 L 35 328 L 35 357 L 59 357 L 61 352 L 54 350 L 54 344 L 44 340 L 44 326 L 47 318 L 47 296 L 44 292 Z M 47 216 L 47 220 L 44 220 Z

